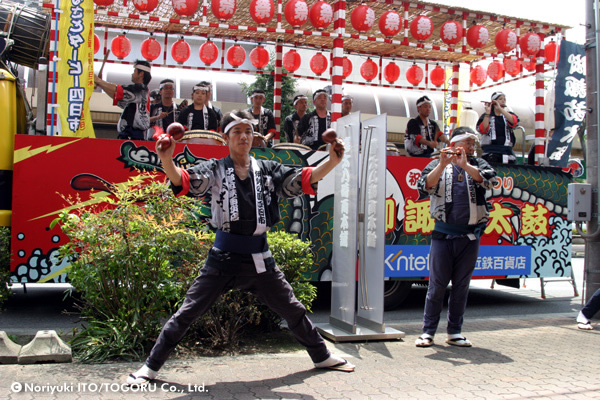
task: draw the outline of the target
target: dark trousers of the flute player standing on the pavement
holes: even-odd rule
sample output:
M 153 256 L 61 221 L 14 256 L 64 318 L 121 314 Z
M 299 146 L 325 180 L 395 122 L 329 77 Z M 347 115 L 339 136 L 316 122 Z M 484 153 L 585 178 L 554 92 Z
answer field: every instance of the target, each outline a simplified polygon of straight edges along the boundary
M 471 275 L 479 254 L 479 239 L 467 237 L 431 240 L 429 252 L 429 288 L 425 300 L 423 333 L 435 335 L 444 306 L 448 283 L 452 290 L 448 299 L 448 334 L 461 333 L 463 315 L 467 308 L 467 296 Z

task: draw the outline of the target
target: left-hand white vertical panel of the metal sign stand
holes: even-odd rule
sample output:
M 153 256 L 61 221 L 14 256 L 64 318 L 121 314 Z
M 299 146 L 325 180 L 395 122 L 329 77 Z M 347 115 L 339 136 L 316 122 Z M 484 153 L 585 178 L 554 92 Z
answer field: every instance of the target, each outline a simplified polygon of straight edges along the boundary
M 329 323 L 346 332 L 356 333 L 360 113 L 339 118 L 336 132 L 344 141 L 346 151 L 342 162 L 335 169 Z

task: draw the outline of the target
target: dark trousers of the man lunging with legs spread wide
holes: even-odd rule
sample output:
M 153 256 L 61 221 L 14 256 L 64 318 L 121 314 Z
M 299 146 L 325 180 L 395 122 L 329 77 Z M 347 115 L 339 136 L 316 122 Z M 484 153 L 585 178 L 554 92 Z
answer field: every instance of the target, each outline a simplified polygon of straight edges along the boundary
M 209 255 L 209 260 L 210 258 Z M 158 371 L 192 322 L 207 312 L 221 294 L 234 288 L 253 293 L 286 320 L 290 331 L 296 340 L 306 347 L 313 362 L 325 361 L 329 357 L 325 341 L 306 316 L 306 308 L 296 299 L 292 287 L 279 268 L 274 267 L 262 274 L 256 274 L 252 273 L 254 265 L 245 265 L 241 268 L 244 273 L 233 274 L 209 264 L 210 262 L 207 262 L 202 268 L 200 276 L 188 289 L 182 306 L 163 327 L 146 359 L 149 368 Z

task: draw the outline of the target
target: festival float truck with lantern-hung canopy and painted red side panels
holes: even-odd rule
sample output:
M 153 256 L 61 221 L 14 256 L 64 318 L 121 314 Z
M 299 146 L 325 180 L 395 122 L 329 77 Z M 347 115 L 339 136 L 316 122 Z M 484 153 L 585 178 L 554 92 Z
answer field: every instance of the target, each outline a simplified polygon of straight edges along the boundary
M 207 1 L 199 3 L 198 0 L 97 0 L 95 4 L 90 0 L 56 0 L 41 2 L 36 9 L 4 1 L 0 6 L 1 18 L 11 21 L 5 29 L 15 41 L 12 49 L 7 46 L 3 53 L 7 65 L 19 63 L 44 73 L 45 66 L 38 64 L 38 58 L 45 56 L 49 61 L 47 96 L 38 96 L 38 99 L 45 97 L 47 104 L 43 105 L 43 118 L 38 117 L 36 121 L 37 134 L 26 134 L 24 113 L 20 111 L 23 96 L 19 95 L 19 84 L 10 69 L 2 72 L 4 79 L 0 81 L 6 113 L 0 126 L 4 151 L 2 172 L 6 178 L 1 192 L 0 217 L 2 224 L 12 229 L 13 282 L 68 281 L 69 264 L 58 257 L 59 247 L 67 243 L 68 238 L 58 227 L 51 229 L 50 223 L 65 210 L 98 204 L 110 196 L 108 190 L 93 190 L 106 188 L 102 182 L 118 185 L 142 171 L 156 172 L 161 179 L 162 169 L 154 143 L 94 137 L 88 106 L 94 89 L 94 62 L 96 66 L 103 61 L 121 63 L 126 68 L 131 68 L 133 62 L 126 54 L 123 59 L 113 54 L 103 56 L 107 53 L 109 38 L 121 36 L 109 28 L 164 36 L 158 53 L 148 56 L 153 66 L 197 69 L 207 75 L 210 71 L 273 74 L 273 108 L 278 129 L 283 76 L 331 84 L 334 125 L 341 117 L 344 83 L 364 85 L 365 90 L 382 86 L 443 92 L 447 100 L 444 121 L 447 132 L 460 122 L 461 112 L 467 113 L 461 110 L 462 92 L 535 76 L 536 165 L 496 166 L 499 179 L 490 193 L 490 220 L 473 278 L 492 278 L 515 287 L 519 286 L 520 278 L 541 278 L 542 294 L 544 279 L 565 278 L 572 282 L 567 186 L 572 180 L 573 168 L 561 168 L 564 166 L 561 162 L 568 159 L 570 153 L 570 141 L 561 141 L 561 138 L 568 136 L 577 119 L 569 119 L 560 129 L 557 123 L 549 141 L 543 112 L 544 72 L 557 67 L 556 44 L 565 26 L 425 2 L 399 1 L 364 4 L 309 1 L 307 4 L 303 0 L 275 3 L 272 0 L 213 0 L 209 6 Z M 17 31 L 26 31 L 29 35 L 19 39 Z M 96 46 L 102 50 L 96 53 L 97 57 L 94 55 L 95 33 L 103 36 L 103 46 L 97 42 L 99 37 L 96 38 Z M 189 36 L 206 38 L 206 43 L 215 44 L 218 56 L 201 53 L 203 62 L 210 62 L 202 65 L 182 61 L 185 54 L 168 54 L 169 43 L 175 44 L 176 39 Z M 549 41 L 548 36 L 554 40 Z M 244 60 L 238 59 L 242 56 L 236 53 L 239 49 L 231 50 L 237 45 L 234 39 L 271 46 L 274 71 L 264 71 L 264 60 L 256 55 L 253 58 L 252 54 L 252 66 L 247 70 L 240 68 Z M 568 57 L 567 43 L 563 41 L 561 62 L 572 59 Z M 27 50 L 17 57 L 16 51 L 25 45 L 39 51 Z M 49 46 L 48 52 L 44 51 L 45 46 Z M 304 60 L 293 54 L 299 47 L 304 51 Z M 243 48 L 242 52 L 245 57 Z M 317 57 L 322 53 L 328 55 L 324 57 L 325 67 L 319 64 L 322 60 Z M 310 62 L 312 72 L 302 74 L 302 68 L 298 68 L 301 63 L 308 65 L 306 54 L 314 54 Z M 347 59 L 357 55 L 369 57 L 361 67 L 363 79 L 348 80 L 345 77 L 351 65 L 348 67 Z M 494 60 L 487 71 L 478 65 L 486 60 Z M 179 61 L 182 64 L 178 64 Z M 331 66 L 327 66 L 327 62 Z M 407 71 L 406 76 L 401 76 L 396 63 Z M 459 85 L 463 75 L 468 82 Z M 573 107 L 567 110 L 569 115 L 581 113 L 585 98 L 583 106 L 581 101 L 575 97 Z M 343 130 L 341 126 L 337 128 L 338 132 Z M 385 237 L 385 245 L 378 258 L 381 262 L 377 261 L 378 265 L 374 266 L 385 280 L 388 307 L 398 306 L 412 284 L 427 282 L 429 240 L 434 225 L 429 215 L 429 199 L 420 196 L 416 188 L 416 181 L 430 159 L 391 153 L 377 160 L 385 166 L 385 194 L 376 199 L 378 204 L 385 205 L 385 217 L 376 221 L 377 229 Z M 185 142 L 177 144 L 175 151 L 181 166 L 227 154 L 224 146 Z M 320 163 L 327 153 L 255 148 L 253 156 L 311 166 Z M 548 165 L 548 160 L 558 167 Z M 335 177 L 330 175 L 319 185 L 317 196 L 283 200 L 280 204 L 282 220 L 275 227 L 312 242 L 315 262 L 305 275 L 310 281 L 332 278 L 333 242 L 336 238 L 339 240 L 339 234 L 333 234 L 334 203 L 339 193 L 334 193 Z M 340 176 L 338 174 L 338 179 Z M 64 197 L 75 195 L 81 202 L 65 208 Z M 344 216 L 358 219 L 356 213 Z

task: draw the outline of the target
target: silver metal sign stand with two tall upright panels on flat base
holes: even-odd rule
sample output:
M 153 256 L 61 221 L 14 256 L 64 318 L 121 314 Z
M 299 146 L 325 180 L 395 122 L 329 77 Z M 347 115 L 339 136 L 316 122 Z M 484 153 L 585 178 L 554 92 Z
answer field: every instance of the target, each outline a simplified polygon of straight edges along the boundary
M 346 153 L 336 169 L 331 315 L 328 324 L 317 324 L 333 342 L 405 336 L 383 322 L 386 119 L 364 121 L 362 141 L 360 113 L 337 121 Z

